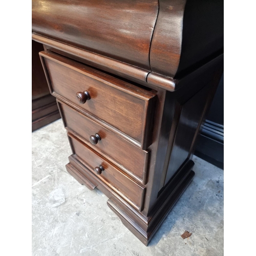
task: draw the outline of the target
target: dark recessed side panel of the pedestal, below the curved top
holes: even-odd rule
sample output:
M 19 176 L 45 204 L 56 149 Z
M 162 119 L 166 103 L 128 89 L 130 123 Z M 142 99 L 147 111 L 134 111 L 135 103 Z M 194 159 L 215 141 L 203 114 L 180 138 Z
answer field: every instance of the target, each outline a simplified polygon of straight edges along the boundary
M 172 108 L 175 110 L 174 121 L 169 137 L 166 138 L 168 150 L 159 190 L 168 183 L 180 166 L 193 156 L 195 142 L 217 89 L 222 69 L 223 55 L 181 79 L 180 90 L 167 93 L 167 102 L 173 102 L 176 106 Z

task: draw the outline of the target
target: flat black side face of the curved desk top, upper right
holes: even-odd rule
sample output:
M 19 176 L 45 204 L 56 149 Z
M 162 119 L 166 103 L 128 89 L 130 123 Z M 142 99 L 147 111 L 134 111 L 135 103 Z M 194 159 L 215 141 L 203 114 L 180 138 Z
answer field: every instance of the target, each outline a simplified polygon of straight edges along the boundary
M 187 0 L 182 31 L 182 51 L 176 78 L 201 67 L 223 53 L 224 1 Z

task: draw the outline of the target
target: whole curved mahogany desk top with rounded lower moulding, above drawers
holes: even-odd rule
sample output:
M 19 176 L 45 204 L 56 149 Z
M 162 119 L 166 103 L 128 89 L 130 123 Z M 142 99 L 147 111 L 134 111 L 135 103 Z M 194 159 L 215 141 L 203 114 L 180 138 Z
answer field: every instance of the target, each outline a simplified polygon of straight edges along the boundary
M 175 91 L 223 52 L 223 0 L 32 0 L 32 32 L 91 66 Z

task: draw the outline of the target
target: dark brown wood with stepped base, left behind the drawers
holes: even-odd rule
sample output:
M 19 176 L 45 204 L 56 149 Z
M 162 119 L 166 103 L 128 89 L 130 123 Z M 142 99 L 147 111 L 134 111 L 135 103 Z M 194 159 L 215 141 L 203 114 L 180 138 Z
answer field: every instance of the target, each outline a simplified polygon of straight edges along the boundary
M 42 50 L 42 44 L 32 40 L 32 132 L 60 118 L 38 55 Z

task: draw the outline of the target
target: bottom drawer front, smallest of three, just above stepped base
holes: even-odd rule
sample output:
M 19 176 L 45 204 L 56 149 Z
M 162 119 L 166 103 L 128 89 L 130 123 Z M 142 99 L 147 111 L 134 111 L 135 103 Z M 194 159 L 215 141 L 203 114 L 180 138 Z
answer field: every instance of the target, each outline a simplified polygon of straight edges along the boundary
M 68 133 L 68 136 L 73 154 L 79 157 L 82 163 L 91 170 L 91 172 L 97 175 L 99 179 L 115 190 L 116 193 L 130 204 L 134 205 L 138 209 L 142 208 L 145 190 L 142 185 L 139 185 L 132 178 L 122 172 L 122 170 L 112 165 L 108 160 L 104 159 L 101 155 L 93 151 L 72 134 Z M 101 174 L 96 174 L 94 168 L 99 167 L 100 165 L 104 170 Z

